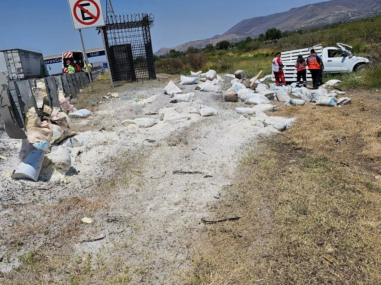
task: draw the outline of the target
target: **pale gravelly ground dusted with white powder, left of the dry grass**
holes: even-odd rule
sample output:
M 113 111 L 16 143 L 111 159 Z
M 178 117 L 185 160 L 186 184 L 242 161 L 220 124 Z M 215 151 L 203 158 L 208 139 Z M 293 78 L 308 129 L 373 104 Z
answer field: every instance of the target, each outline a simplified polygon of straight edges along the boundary
M 223 90 L 229 82 L 221 84 Z M 12 274 L 13 268 L 25 267 L 20 257 L 40 250 L 61 262 L 49 274 L 39 275 L 47 283 L 67 282 L 75 276 L 80 283 L 98 284 L 103 273 L 113 278 L 113 271 L 106 272 L 99 264 L 118 264 L 119 271 L 128 268 L 128 280 L 134 284 L 184 282 L 191 269 L 195 233 L 206 229 L 201 218 L 208 219 L 213 203 L 224 199 L 224 186 L 239 179 L 235 170 L 245 144 L 277 131 L 239 123 L 234 108 L 243 103 L 225 103 L 220 93 L 180 86 L 184 93 L 194 92 L 196 101 L 172 104 L 170 96 L 163 94 L 164 86 L 154 81 L 126 87 L 121 97 L 148 98 L 152 103 L 106 100 L 94 116 L 74 120 L 73 129 L 90 136 L 91 142 L 69 149 L 72 168 L 67 185 L 61 180 L 35 183 L 6 178 L 17 165 L 21 144 L 6 139 L 0 128 L 0 140 L 9 141 L 0 142 L 0 151 L 11 155 L 0 160 L 0 276 L 16 280 L 19 276 Z M 189 114 L 200 102 L 217 109 L 218 116 Z M 150 128 L 121 124 L 168 107 L 191 119 L 166 123 L 152 115 L 157 124 Z M 173 174 L 175 170 L 202 174 Z M 81 202 L 74 203 L 73 198 Z M 82 224 L 85 215 L 95 222 Z M 86 242 L 94 237 L 102 239 Z M 86 265 L 89 254 L 91 274 L 74 274 Z M 117 276 L 124 272 L 119 271 Z M 36 283 L 31 270 L 22 273 L 24 281 Z

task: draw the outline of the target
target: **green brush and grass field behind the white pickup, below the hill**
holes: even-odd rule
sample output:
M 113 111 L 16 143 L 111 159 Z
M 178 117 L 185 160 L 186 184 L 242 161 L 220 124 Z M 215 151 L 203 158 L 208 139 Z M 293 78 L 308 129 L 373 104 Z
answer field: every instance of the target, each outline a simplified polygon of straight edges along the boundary
M 190 74 L 191 71 L 208 69 L 218 73 L 245 70 L 247 76 L 253 77 L 260 70 L 264 74 L 271 73 L 271 60 L 278 51 L 302 49 L 317 44 L 336 46 L 336 43 L 345 43 L 353 47 L 354 54 L 370 56 L 376 64 L 359 73 L 338 74 L 335 78 L 355 88 L 376 88 L 381 83 L 378 76 L 381 70 L 381 65 L 378 64 L 381 59 L 380 25 L 381 16 L 297 32 L 281 32 L 273 28 L 256 39 L 248 37 L 239 43 L 222 41 L 215 46 L 208 44 L 203 49 L 191 46 L 185 52 L 171 50 L 161 57 L 155 56 L 156 70 L 158 73 L 170 74 Z M 365 78 L 358 78 L 362 76 Z

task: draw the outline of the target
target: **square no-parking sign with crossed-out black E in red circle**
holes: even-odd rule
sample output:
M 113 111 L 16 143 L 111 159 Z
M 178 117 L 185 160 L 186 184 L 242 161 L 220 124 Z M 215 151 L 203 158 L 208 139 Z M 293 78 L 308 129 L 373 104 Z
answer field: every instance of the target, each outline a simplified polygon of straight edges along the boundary
M 101 0 L 68 0 L 75 30 L 104 26 Z

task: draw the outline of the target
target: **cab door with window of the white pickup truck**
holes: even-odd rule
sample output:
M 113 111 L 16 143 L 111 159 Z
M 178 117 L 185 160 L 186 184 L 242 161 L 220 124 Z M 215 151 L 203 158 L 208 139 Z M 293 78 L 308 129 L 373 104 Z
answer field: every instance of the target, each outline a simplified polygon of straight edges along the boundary
M 324 52 L 324 71 L 328 73 L 348 72 L 352 57 L 336 47 L 327 47 Z

